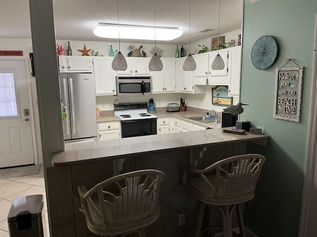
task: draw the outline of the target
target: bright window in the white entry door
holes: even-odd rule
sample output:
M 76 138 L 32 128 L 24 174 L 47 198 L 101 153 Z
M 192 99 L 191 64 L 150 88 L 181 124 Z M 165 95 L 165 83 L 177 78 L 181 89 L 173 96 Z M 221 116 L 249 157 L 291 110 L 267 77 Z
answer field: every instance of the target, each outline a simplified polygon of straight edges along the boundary
M 17 117 L 16 88 L 13 73 L 0 73 L 0 117 Z

